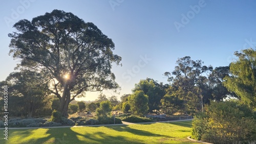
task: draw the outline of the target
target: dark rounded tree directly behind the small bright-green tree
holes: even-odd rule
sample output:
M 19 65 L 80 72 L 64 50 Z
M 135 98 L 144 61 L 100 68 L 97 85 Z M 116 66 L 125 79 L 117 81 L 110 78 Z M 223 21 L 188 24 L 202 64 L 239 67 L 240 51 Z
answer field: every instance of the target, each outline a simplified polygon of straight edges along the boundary
M 162 83 L 158 84 L 157 81 L 147 78 L 146 80 L 140 80 L 138 84 L 135 84 L 133 92 L 135 92 L 136 90 L 142 90 L 144 94 L 148 96 L 149 112 L 160 109 L 160 101 L 165 94 Z

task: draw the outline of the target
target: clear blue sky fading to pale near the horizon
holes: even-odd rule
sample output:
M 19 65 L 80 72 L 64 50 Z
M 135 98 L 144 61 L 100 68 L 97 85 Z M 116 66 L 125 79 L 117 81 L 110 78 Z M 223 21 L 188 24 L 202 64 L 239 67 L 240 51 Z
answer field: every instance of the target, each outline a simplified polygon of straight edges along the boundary
M 18 62 L 8 55 L 7 35 L 15 31 L 13 24 L 54 9 L 93 22 L 113 39 L 114 53 L 122 57 L 122 67 L 113 65 L 122 95 L 131 93 L 140 79 L 153 78 L 167 83 L 163 73 L 172 71 L 176 60 L 184 56 L 214 67 L 228 65 L 235 51 L 256 45 L 255 7 L 256 2 L 252 0 L 5 1 L 0 6 L 0 81 L 5 80 Z M 97 94 L 88 93 L 83 100 L 95 100 Z M 120 97 L 111 91 L 104 94 Z

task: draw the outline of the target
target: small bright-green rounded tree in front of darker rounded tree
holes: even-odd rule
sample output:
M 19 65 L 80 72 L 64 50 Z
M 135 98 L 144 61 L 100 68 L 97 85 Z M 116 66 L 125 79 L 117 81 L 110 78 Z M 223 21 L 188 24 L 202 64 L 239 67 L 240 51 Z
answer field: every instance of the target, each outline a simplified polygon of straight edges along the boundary
M 148 97 L 142 90 L 136 90 L 129 98 L 131 112 L 143 116 L 148 111 Z

